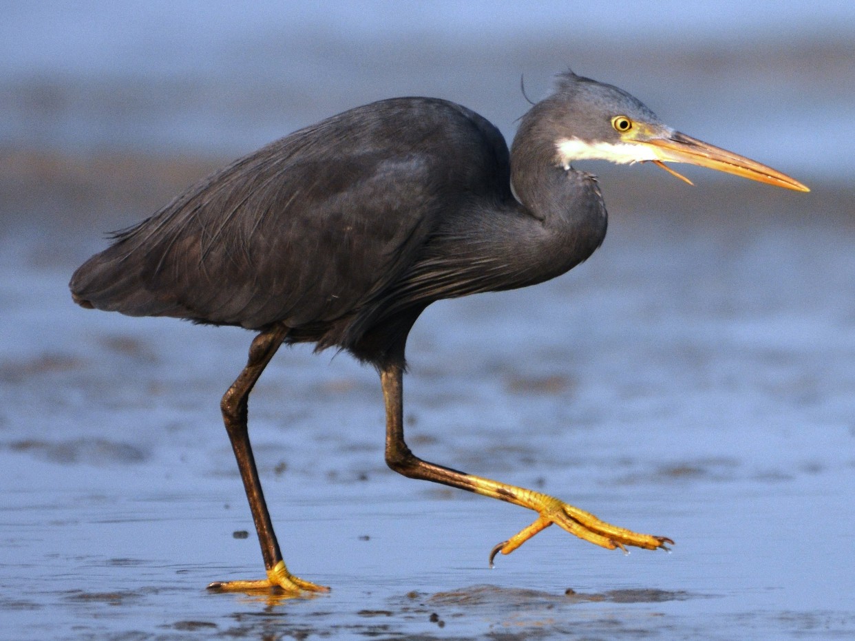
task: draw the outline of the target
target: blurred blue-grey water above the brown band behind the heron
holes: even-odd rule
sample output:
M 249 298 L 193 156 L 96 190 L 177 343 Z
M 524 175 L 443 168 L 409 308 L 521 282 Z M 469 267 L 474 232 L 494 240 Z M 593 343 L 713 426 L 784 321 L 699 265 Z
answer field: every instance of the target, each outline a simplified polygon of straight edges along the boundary
M 230 157 L 382 97 L 483 112 L 510 137 L 551 74 L 676 126 L 843 175 L 851 3 L 3 3 L 0 136 L 18 148 Z M 792 151 L 799 150 L 793 157 Z

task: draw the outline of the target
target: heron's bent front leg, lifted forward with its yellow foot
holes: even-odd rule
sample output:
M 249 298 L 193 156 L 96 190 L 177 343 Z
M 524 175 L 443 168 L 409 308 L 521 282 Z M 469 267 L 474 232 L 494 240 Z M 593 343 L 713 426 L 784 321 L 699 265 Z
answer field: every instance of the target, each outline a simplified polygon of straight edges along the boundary
M 386 464 L 390 468 L 410 479 L 429 480 L 475 492 L 485 497 L 498 498 L 523 508 L 533 509 L 540 515 L 530 526 L 523 528 L 521 532 L 492 549 L 491 565 L 493 557 L 498 552 L 510 554 L 553 523 L 579 538 L 609 550 L 620 548 L 626 551 L 627 545 L 646 550 L 657 550 L 657 548 L 667 550 L 665 544 L 674 544 L 670 538 L 639 534 L 623 527 L 610 525 L 589 512 L 541 492 L 422 461 L 413 455 L 404 443 L 403 369 L 398 365 L 384 368 L 380 372 L 380 381 L 386 401 Z

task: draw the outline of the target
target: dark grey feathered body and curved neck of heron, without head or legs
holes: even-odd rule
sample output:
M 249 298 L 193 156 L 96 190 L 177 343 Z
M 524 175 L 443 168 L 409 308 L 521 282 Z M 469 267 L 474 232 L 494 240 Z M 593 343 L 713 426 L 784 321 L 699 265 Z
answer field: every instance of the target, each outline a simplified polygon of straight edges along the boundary
M 443 100 L 385 100 L 269 144 L 119 232 L 74 273 L 74 300 L 280 324 L 286 342 L 403 363 L 429 303 L 553 278 L 602 242 L 596 181 L 556 166 L 539 115 L 548 108 L 536 105 L 517 134 L 521 202 L 496 127 Z

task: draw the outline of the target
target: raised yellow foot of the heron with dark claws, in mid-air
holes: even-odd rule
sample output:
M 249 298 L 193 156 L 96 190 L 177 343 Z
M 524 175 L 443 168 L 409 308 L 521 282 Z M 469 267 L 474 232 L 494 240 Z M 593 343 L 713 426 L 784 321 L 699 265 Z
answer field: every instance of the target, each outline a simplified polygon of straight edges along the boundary
M 514 489 L 516 490 L 516 488 Z M 667 537 L 639 534 L 623 527 L 613 526 L 604 520 L 599 520 L 590 512 L 574 508 L 568 503 L 546 496 L 540 492 L 530 490 L 521 491 L 515 498 L 517 500 L 514 503 L 534 509 L 535 512 L 540 514 L 540 517 L 530 526 L 523 528 L 518 534 L 496 545 L 490 552 L 490 567 L 492 567 L 492 560 L 499 552 L 510 554 L 528 541 L 529 538 L 534 537 L 535 534 L 551 526 L 553 523 L 567 530 L 570 534 L 575 534 L 579 538 L 600 545 L 608 550 L 620 548 L 626 552 L 627 549 L 624 547 L 626 545 L 634 545 L 635 547 L 646 550 L 657 550 L 659 548 L 668 550 L 665 544 L 674 544 L 674 541 Z

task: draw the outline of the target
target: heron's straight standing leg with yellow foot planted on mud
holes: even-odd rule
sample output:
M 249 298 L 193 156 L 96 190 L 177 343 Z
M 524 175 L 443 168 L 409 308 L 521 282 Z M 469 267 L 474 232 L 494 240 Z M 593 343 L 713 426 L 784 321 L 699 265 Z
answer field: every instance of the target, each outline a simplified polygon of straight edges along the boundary
M 246 367 L 223 395 L 220 403 L 222 419 L 226 424 L 228 438 L 232 441 L 234 456 L 238 461 L 240 477 L 244 480 L 246 497 L 250 502 L 252 519 L 256 524 L 258 542 L 262 546 L 264 567 L 267 579 L 251 581 L 217 581 L 208 586 L 214 591 L 271 591 L 280 590 L 297 596 L 304 591 L 327 591 L 323 585 L 304 581 L 288 572 L 267 503 L 264 503 L 261 480 L 258 479 L 255 457 L 252 456 L 249 431 L 247 429 L 247 399 L 258 377 L 285 340 L 288 330 L 284 326 L 274 326 L 253 339 Z

